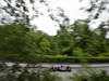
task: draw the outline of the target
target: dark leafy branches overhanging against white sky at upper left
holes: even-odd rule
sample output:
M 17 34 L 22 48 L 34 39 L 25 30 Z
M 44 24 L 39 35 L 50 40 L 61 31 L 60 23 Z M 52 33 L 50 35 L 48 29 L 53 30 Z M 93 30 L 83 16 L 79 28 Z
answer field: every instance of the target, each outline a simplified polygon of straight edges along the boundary
M 47 0 L 1 0 L 0 3 L 0 14 L 2 15 L 0 18 L 1 24 L 14 22 L 31 25 L 31 21 L 45 14 L 40 11 L 40 6 L 45 6 L 47 9 L 45 10 L 48 12 L 48 16 L 51 18 L 51 21 L 55 21 L 59 24 L 60 17 L 63 19 L 66 17 L 64 15 L 64 11 L 59 6 L 56 8 L 58 13 L 56 16 L 53 13 L 56 10 L 50 6 L 50 3 Z

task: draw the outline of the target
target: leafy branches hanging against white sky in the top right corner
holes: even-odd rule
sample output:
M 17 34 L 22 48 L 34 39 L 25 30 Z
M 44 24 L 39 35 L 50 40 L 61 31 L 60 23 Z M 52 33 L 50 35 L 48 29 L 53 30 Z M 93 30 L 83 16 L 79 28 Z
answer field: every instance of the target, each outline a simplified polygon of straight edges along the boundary
M 85 1 L 85 0 L 80 0 L 80 2 Z M 82 8 L 82 10 L 88 12 L 88 17 L 87 17 L 87 22 L 92 24 L 92 22 L 97 23 L 99 18 L 101 18 L 100 16 L 105 13 L 108 14 L 109 10 L 108 10 L 108 5 L 109 5 L 109 0 L 88 0 L 88 5 L 87 8 Z M 107 23 L 106 25 L 108 25 L 109 19 L 106 18 L 104 21 L 99 21 L 100 24 L 102 22 Z

